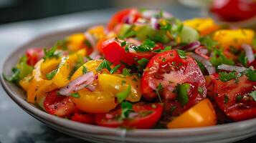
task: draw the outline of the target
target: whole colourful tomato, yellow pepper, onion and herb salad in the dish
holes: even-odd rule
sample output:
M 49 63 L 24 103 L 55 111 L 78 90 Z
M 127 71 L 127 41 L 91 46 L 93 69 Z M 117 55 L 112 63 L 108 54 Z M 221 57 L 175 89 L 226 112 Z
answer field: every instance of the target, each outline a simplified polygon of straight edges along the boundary
M 106 26 L 27 49 L 4 77 L 27 102 L 75 122 L 206 127 L 256 117 L 255 52 L 252 29 L 123 9 Z

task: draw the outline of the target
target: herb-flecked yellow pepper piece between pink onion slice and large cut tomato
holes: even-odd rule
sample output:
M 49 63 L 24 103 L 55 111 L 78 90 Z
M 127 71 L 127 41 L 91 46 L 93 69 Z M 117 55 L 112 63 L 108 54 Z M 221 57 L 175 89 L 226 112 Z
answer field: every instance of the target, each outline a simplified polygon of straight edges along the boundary
M 126 100 L 138 102 L 141 99 L 141 80 L 136 75 L 123 77 L 120 74 L 99 74 L 98 82 L 103 91 L 112 92 L 114 95 L 131 85 L 131 94 Z

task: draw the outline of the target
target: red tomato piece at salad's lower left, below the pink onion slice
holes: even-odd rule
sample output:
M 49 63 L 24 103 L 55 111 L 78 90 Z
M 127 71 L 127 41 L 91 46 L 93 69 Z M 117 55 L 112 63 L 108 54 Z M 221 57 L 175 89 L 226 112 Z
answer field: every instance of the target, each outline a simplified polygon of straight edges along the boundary
M 47 94 L 44 100 L 44 109 L 49 114 L 66 117 L 75 111 L 75 104 L 70 97 L 57 95 L 57 91 L 54 90 Z

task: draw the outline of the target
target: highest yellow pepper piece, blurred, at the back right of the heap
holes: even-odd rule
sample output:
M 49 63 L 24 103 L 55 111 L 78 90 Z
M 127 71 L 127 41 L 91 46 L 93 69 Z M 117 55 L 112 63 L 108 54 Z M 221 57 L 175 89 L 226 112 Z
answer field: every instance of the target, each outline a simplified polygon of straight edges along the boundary
M 211 18 L 188 19 L 183 21 L 183 24 L 196 29 L 203 36 L 219 29 L 219 26 Z

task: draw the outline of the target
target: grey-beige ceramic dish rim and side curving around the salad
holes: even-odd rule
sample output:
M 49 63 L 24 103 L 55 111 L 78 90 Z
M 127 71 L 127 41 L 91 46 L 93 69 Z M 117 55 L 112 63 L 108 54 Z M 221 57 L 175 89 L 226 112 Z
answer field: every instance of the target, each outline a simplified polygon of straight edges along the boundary
M 27 48 L 51 46 L 54 44 L 54 41 L 62 39 L 69 34 L 85 31 L 86 27 L 90 26 L 44 34 L 23 46 L 19 46 L 1 61 L 1 85 L 4 87 L 9 97 L 11 97 L 19 107 L 24 109 L 25 112 L 32 115 L 32 117 L 53 129 L 90 142 L 234 142 L 252 137 L 256 134 L 256 119 L 222 124 L 214 127 L 134 130 L 112 129 L 72 122 L 71 120 L 47 114 L 47 112 L 42 111 L 34 104 L 29 104 L 26 101 L 26 94 L 22 89 L 4 80 L 2 73 L 10 73 L 11 67 L 16 64 L 16 61 L 19 60 L 19 57 Z

